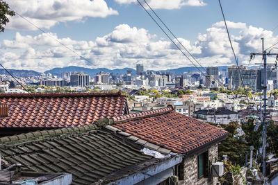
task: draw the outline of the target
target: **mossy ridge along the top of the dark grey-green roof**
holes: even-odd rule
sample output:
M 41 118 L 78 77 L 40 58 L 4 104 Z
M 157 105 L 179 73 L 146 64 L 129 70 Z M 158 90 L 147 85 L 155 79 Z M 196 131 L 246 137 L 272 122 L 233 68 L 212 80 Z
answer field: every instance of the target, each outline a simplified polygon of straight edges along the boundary
M 55 137 L 72 136 L 74 134 L 82 134 L 91 130 L 97 130 L 98 125 L 90 124 L 80 127 L 63 127 L 54 130 L 42 130 L 35 132 L 28 132 L 24 134 L 17 134 L 13 136 L 4 136 L 0 138 L 0 148 L 15 146 L 22 143 L 31 143 L 33 141 L 42 141 L 45 139 L 52 139 Z

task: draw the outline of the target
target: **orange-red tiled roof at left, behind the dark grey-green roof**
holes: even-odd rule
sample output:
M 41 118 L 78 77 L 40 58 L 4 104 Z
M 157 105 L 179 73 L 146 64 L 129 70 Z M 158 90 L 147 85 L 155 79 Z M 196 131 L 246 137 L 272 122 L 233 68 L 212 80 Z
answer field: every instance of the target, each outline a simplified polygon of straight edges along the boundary
M 0 94 L 0 103 L 8 104 L 8 117 L 0 118 L 0 127 L 75 127 L 129 113 L 120 92 Z

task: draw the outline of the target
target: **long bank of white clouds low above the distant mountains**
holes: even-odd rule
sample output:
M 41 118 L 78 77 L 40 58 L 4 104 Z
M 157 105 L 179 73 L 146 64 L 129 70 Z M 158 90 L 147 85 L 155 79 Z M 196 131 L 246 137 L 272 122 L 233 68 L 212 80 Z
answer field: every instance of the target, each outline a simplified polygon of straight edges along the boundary
M 273 37 L 271 31 L 244 23 L 228 21 L 228 27 L 231 33 L 236 33 L 231 34 L 231 41 L 240 64 L 247 64 L 250 53 L 261 50 L 261 37 L 270 44 L 278 40 L 278 36 Z M 184 38 L 179 38 L 179 41 L 204 67 L 211 64 L 235 64 L 229 39 L 221 22 L 207 28 L 206 33 L 200 34 L 195 43 Z M 180 46 L 177 40 L 175 43 Z M 60 38 L 56 33 L 36 36 L 16 33 L 13 40 L 6 39 L 0 44 L 1 51 L 4 51 L 0 54 L 1 60 L 13 69 L 46 71 L 70 65 L 109 69 L 134 68 L 137 62 L 143 62 L 146 69 L 154 70 L 193 66 L 169 40 L 157 38 L 144 28 L 130 27 L 127 24 L 120 24 L 111 33 L 91 41 Z M 183 50 L 182 47 L 181 49 Z M 254 62 L 258 60 L 259 58 L 256 58 Z

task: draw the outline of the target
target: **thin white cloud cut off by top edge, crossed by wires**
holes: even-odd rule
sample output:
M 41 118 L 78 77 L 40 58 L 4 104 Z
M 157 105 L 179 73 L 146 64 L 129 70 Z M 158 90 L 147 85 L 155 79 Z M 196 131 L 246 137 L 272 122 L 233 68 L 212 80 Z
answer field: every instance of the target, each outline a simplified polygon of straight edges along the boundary
M 130 4 L 130 3 L 137 3 L 137 0 L 114 0 L 120 4 Z M 179 9 L 182 6 L 206 6 L 203 0 L 145 0 L 149 4 L 150 7 L 153 9 Z M 140 3 L 146 6 L 143 0 L 140 0 Z

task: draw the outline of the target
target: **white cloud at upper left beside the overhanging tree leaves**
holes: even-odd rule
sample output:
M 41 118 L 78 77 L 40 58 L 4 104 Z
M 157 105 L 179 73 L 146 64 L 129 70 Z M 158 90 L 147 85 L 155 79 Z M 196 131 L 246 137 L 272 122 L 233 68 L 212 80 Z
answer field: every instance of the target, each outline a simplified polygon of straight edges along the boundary
M 107 17 L 118 12 L 104 0 L 7 0 L 10 8 L 39 28 L 51 28 L 60 22 L 83 21 L 86 17 Z M 7 29 L 37 30 L 19 17 L 10 17 Z

